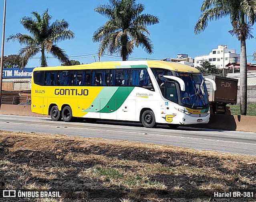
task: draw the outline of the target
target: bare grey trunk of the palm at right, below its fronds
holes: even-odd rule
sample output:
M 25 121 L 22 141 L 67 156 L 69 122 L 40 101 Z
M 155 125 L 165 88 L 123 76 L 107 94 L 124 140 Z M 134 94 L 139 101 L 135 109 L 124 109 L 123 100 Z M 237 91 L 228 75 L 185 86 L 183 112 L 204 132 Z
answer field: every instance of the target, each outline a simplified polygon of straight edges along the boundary
M 241 115 L 247 113 L 247 59 L 246 59 L 246 39 L 241 38 L 240 53 L 240 112 Z

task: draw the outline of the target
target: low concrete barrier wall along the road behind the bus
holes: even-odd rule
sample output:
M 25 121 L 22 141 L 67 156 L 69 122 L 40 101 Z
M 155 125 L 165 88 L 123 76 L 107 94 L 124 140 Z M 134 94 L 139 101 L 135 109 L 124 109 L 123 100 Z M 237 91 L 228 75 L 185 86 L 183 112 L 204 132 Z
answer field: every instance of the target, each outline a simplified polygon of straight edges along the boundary
M 2 104 L 0 114 L 22 115 L 22 116 L 41 116 L 31 112 L 30 105 L 9 105 Z M 256 116 L 232 116 L 212 114 L 208 124 L 188 125 L 196 128 L 211 128 L 219 130 L 239 130 L 256 132 Z

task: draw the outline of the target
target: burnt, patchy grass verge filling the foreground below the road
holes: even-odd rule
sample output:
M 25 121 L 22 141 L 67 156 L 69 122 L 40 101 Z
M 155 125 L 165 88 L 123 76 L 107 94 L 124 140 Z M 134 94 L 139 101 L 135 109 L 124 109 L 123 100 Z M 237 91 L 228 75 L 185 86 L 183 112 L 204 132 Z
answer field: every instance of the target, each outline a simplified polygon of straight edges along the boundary
M 0 131 L 0 190 L 61 194 L 1 202 L 256 202 L 256 156 Z

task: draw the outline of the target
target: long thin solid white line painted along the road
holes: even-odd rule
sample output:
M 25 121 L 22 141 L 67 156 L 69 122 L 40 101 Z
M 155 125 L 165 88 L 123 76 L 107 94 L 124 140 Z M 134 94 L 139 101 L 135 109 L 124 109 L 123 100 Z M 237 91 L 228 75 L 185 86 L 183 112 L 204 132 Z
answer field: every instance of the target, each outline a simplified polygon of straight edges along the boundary
M 1 121 L 0 121 L 1 123 Z M 6 123 L 6 122 L 2 122 Z M 35 126 L 35 124 L 26 124 L 26 123 L 12 123 L 9 122 L 8 124 L 20 124 L 20 125 L 32 125 Z M 49 126 L 49 125 L 43 125 L 43 124 L 37 124 L 38 126 L 44 126 L 44 127 L 61 127 L 61 128 L 66 128 L 65 126 Z M 248 143 L 248 142 L 235 142 L 235 141 L 228 141 L 228 140 L 214 140 L 214 139 L 206 139 L 206 138 L 192 138 L 192 137 L 182 137 L 182 136 L 174 136 L 174 135 L 163 135 L 163 134 L 143 134 L 143 132 L 129 132 L 129 131 L 120 131 L 120 130 L 108 130 L 108 129 L 94 129 L 94 128 L 79 128 L 79 127 L 68 127 L 71 129 L 80 129 L 80 130 L 95 130 L 95 131 L 109 131 L 109 132 L 122 132 L 122 133 L 129 133 L 129 134 L 140 134 L 144 136 L 164 136 L 164 137 L 173 137 L 173 138 L 181 138 L 181 139 L 192 139 L 192 140 L 208 140 L 208 141 L 213 141 L 213 142 L 228 142 L 228 143 L 235 143 L 235 144 L 248 144 L 248 145 L 256 145 L 253 143 Z

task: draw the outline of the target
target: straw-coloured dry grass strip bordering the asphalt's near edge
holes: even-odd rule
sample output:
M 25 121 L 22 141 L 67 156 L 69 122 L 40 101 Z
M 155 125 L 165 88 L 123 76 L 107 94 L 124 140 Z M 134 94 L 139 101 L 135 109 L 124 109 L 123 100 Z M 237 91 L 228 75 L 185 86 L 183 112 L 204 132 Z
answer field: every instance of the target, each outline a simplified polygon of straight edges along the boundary
M 61 150 L 61 141 L 76 141 L 77 147 L 80 148 L 88 148 L 94 145 L 108 145 L 109 148 L 120 146 L 125 150 L 125 148 L 131 148 L 131 142 L 126 140 L 105 140 L 103 138 L 85 138 L 75 137 L 75 136 L 67 136 L 67 135 L 56 135 L 56 134 L 47 134 L 47 135 L 38 135 L 36 133 L 23 133 L 18 132 L 16 135 L 13 136 L 13 132 L 7 131 L 0 131 L 1 138 L 0 140 L 4 140 L 6 136 L 11 136 L 12 138 L 19 137 L 19 140 L 14 142 L 12 148 L 9 148 L 10 151 L 18 151 L 22 150 L 20 146 L 22 145 L 23 150 L 24 148 L 29 148 L 32 151 L 40 151 L 42 148 L 47 148 L 48 150 Z M 27 136 L 29 135 L 30 141 L 27 141 Z M 36 143 L 36 144 L 35 144 Z M 220 159 L 226 160 L 233 160 L 234 162 L 242 162 L 253 164 L 256 163 L 255 156 L 246 156 L 242 154 L 227 154 L 221 152 L 214 152 L 214 151 L 202 151 L 202 150 L 195 150 L 190 148 L 182 148 L 182 147 L 175 147 L 175 146 L 163 146 L 157 144 L 145 144 L 139 142 L 132 142 L 133 148 L 137 150 L 154 150 L 160 152 L 187 152 L 189 154 L 200 155 L 200 156 L 207 156 L 207 157 L 218 157 Z M 56 153 L 58 153 L 56 151 Z M 122 154 L 122 152 L 120 152 Z

